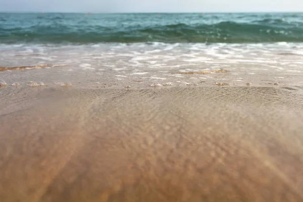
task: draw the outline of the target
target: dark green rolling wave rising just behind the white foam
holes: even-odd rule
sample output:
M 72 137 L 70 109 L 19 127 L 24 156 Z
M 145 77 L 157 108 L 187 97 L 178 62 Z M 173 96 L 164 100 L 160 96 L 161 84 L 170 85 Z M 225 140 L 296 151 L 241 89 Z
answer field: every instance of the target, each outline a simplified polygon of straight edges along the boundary
M 41 18 L 41 17 L 40 17 Z M 38 19 L 40 19 L 38 18 Z M 217 16 L 218 18 L 218 16 Z M 42 21 L 42 22 L 41 22 Z M 128 21 L 130 21 L 128 19 Z M 196 42 L 259 43 L 303 42 L 303 23 L 284 18 L 253 19 L 246 22 L 221 21 L 144 23 L 133 20 L 112 25 L 71 23 L 63 17 L 40 19 L 39 23 L 0 25 L 0 43 L 100 43 L 100 42 Z

